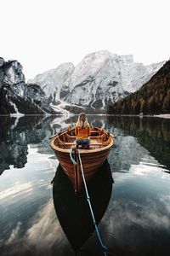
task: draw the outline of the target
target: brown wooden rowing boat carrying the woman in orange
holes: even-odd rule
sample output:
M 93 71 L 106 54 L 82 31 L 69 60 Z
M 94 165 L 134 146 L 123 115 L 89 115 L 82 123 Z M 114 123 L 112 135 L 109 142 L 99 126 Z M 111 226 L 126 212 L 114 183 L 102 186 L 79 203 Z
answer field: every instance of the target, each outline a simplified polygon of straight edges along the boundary
M 90 132 L 90 148 L 79 148 L 82 166 L 86 181 L 93 177 L 94 173 L 99 170 L 107 155 L 110 153 L 114 144 L 114 136 L 105 131 L 94 127 Z M 77 155 L 75 129 L 67 129 L 52 137 L 51 147 L 63 167 L 67 176 L 71 179 L 71 183 L 75 188 L 75 192 L 79 192 L 83 188 L 81 166 Z M 73 165 L 70 157 L 71 150 L 77 165 Z

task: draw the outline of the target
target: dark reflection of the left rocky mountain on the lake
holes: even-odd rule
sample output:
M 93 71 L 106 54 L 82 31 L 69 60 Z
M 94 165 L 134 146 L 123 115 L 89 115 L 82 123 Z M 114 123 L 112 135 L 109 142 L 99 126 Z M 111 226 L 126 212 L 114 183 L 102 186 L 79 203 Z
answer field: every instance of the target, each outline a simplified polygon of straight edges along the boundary
M 11 165 L 22 168 L 27 162 L 29 143 L 42 143 L 53 134 L 50 123 L 54 117 L 0 117 L 0 174 Z M 39 148 L 38 148 L 39 149 Z M 50 150 L 50 148 L 49 148 Z M 47 151 L 47 146 L 46 146 Z

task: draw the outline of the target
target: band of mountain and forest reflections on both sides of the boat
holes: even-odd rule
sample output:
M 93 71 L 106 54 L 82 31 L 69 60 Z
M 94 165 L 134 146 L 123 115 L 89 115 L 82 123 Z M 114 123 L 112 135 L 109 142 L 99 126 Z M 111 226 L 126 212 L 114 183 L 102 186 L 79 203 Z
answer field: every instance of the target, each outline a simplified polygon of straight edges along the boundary
M 88 120 L 92 126 L 103 126 L 117 135 L 114 152 L 117 165 L 112 166 L 114 170 L 128 170 L 132 161 L 137 163 L 148 153 L 170 169 L 169 119 L 88 116 Z M 9 166 L 22 168 L 26 165 L 28 144 L 34 144 L 39 153 L 51 154 L 48 138 L 68 125 L 75 125 L 76 121 L 77 116 L 0 117 L 0 174 Z M 133 150 L 134 147 L 136 150 Z M 125 160 L 126 163 L 121 163 L 122 168 L 116 156 L 121 157 L 122 162 Z

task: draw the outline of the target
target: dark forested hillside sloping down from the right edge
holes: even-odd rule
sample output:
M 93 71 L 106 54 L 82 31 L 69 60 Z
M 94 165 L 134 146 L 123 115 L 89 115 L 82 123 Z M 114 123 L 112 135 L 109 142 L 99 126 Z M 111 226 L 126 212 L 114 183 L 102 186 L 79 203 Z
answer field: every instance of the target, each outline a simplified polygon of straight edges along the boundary
M 110 105 L 110 114 L 170 113 L 170 61 L 139 90 Z

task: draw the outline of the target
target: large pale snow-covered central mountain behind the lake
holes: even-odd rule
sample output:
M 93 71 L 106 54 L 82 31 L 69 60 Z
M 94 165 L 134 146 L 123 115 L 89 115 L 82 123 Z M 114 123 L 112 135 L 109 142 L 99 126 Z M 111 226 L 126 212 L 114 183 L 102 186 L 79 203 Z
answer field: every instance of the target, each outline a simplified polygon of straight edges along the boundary
M 133 55 L 113 55 L 109 51 L 88 54 L 74 67 L 64 63 L 29 80 L 38 84 L 50 98 L 50 106 L 62 111 L 71 106 L 88 112 L 105 113 L 108 105 L 138 90 L 164 64 L 144 66 Z

